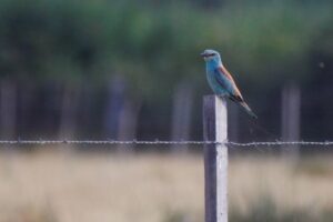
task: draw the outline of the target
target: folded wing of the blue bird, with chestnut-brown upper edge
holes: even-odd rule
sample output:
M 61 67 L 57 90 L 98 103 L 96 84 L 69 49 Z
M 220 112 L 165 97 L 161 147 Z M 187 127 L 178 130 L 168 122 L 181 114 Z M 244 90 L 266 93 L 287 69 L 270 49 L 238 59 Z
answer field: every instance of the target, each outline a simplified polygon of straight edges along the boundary
M 239 101 L 239 102 L 244 101 L 232 75 L 229 73 L 229 71 L 223 65 L 216 68 L 214 77 L 215 77 L 216 81 L 221 84 L 221 87 L 223 87 L 224 89 L 226 89 L 229 91 L 230 97 L 231 97 L 230 99 Z

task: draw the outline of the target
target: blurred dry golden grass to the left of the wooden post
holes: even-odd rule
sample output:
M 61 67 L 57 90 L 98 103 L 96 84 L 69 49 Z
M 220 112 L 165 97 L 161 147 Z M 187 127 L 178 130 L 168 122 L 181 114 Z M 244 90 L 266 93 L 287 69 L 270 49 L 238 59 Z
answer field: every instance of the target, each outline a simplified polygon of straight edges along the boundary
M 41 209 L 61 222 L 150 222 L 203 208 L 199 157 L 42 152 L 2 154 L 0 165 L 3 220 Z

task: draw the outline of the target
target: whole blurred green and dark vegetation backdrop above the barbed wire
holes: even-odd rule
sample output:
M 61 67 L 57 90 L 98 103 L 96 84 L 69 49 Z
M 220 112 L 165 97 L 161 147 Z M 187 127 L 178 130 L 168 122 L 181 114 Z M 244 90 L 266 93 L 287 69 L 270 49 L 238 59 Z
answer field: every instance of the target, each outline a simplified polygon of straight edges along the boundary
M 265 129 L 231 105 L 232 140 L 280 139 L 290 85 L 301 92 L 294 139 L 332 138 L 332 9 L 330 0 L 1 0 L 1 139 L 200 140 L 202 95 L 212 93 L 199 57 L 206 48 L 222 53 Z

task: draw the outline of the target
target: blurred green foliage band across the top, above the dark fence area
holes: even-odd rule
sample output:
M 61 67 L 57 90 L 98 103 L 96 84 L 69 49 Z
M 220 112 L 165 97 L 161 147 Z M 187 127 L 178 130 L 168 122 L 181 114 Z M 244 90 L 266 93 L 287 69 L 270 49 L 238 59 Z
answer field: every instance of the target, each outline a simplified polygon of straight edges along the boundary
M 309 78 L 313 51 L 332 62 L 330 1 L 193 2 L 4 0 L 0 74 L 95 83 L 121 74 L 133 93 L 161 98 L 182 79 L 205 88 L 205 48 L 254 89 Z

